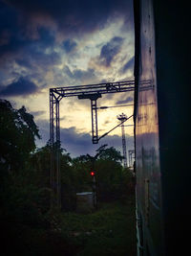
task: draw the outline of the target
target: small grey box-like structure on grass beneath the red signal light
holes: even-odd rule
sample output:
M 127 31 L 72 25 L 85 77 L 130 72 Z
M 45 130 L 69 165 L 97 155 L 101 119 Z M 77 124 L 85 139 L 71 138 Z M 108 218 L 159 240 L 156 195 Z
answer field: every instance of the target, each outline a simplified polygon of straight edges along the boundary
M 94 209 L 94 193 L 76 193 L 76 212 L 90 213 Z

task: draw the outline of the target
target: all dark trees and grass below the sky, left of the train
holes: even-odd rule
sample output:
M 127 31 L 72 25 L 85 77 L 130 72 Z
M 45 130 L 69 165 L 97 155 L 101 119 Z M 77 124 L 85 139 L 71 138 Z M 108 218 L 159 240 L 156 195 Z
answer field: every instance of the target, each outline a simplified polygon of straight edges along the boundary
M 39 130 L 26 108 L 0 100 L 3 255 L 12 248 L 13 255 L 135 255 L 135 181 L 120 152 L 103 145 L 96 156 L 72 158 L 60 148 L 62 209 L 50 210 L 51 146 L 36 149 L 35 137 Z M 93 190 L 91 170 L 98 209 L 76 214 L 76 192 Z

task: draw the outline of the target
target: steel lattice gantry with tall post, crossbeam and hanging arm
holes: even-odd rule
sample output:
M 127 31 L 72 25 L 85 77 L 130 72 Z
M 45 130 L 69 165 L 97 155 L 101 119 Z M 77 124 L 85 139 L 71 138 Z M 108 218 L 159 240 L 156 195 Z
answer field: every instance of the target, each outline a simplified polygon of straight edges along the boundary
M 78 97 L 79 100 L 89 99 L 92 110 L 92 140 L 97 144 L 97 108 L 96 100 L 102 94 L 127 92 L 134 90 L 134 81 L 105 82 L 90 85 L 55 87 L 50 89 L 50 142 L 51 142 L 51 187 L 53 189 L 52 206 L 61 206 L 60 187 L 60 120 L 59 103 L 66 97 Z M 105 134 L 106 135 L 106 134 Z

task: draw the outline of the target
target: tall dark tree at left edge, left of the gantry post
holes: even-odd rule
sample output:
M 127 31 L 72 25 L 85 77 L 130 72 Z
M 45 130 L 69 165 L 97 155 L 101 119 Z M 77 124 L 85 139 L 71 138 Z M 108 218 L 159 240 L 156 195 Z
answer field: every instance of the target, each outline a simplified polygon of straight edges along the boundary
M 22 106 L 14 109 L 0 100 L 0 217 L 32 225 L 42 221 L 45 180 L 32 166 L 35 137 L 40 138 L 33 116 Z M 44 207 L 45 208 L 45 207 Z M 42 222 L 41 222 L 42 223 Z

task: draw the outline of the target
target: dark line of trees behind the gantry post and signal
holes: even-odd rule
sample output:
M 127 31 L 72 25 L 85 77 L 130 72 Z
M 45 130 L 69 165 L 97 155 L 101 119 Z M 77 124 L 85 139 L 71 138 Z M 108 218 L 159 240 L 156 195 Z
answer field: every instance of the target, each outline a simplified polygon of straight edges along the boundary
M 40 135 L 32 114 L 24 106 L 17 110 L 0 100 L 0 218 L 4 224 L 50 227 L 51 146 L 48 142 L 36 149 L 36 137 Z M 75 210 L 76 192 L 92 191 L 93 168 L 98 200 L 121 199 L 132 193 L 133 176 L 122 168 L 121 160 L 120 152 L 106 145 L 94 157 L 72 158 L 60 149 L 62 211 Z

